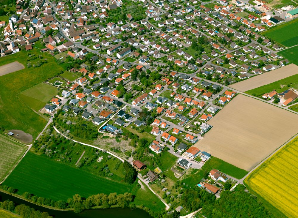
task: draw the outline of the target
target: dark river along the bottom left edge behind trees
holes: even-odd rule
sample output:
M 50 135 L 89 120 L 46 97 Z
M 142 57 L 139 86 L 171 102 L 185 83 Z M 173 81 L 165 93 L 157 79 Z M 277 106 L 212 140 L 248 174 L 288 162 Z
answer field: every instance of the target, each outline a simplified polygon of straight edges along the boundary
M 15 204 L 26 204 L 39 210 L 41 212 L 48 212 L 50 216 L 55 218 L 101 218 L 101 217 L 113 217 L 113 218 L 152 218 L 146 211 L 142 209 L 130 210 L 129 208 L 109 208 L 109 209 L 92 209 L 85 210 L 82 213 L 76 214 L 73 211 L 59 211 L 38 206 L 36 204 L 30 203 L 28 201 L 22 200 L 20 198 L 14 197 L 12 195 L 0 192 L 0 201 L 11 200 Z

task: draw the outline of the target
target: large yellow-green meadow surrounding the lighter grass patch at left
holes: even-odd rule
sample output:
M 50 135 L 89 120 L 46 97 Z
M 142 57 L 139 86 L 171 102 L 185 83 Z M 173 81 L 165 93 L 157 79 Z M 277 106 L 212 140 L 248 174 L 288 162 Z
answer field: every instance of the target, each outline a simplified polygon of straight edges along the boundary
M 18 98 L 18 94 L 57 75 L 64 67 L 56 63 L 49 53 L 41 53 L 34 45 L 31 51 L 21 50 L 13 55 L 1 57 L 0 65 L 19 61 L 24 69 L 0 77 L 0 123 L 5 129 L 20 129 L 35 138 L 44 128 L 46 120 L 35 113 L 29 106 Z M 28 54 L 41 55 L 47 59 L 41 67 L 27 67 Z M 36 61 L 38 61 L 37 59 Z M 32 63 L 33 64 L 33 63 Z M 50 100 L 50 99 L 48 99 Z

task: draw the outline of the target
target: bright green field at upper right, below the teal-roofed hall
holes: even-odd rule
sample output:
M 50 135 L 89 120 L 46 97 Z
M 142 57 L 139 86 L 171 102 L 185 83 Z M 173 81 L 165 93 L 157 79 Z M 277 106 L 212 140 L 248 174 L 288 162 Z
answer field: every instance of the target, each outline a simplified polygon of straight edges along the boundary
M 264 31 L 262 34 L 286 47 L 291 47 L 298 44 L 298 35 L 294 31 L 295 29 L 298 29 L 297 19 Z

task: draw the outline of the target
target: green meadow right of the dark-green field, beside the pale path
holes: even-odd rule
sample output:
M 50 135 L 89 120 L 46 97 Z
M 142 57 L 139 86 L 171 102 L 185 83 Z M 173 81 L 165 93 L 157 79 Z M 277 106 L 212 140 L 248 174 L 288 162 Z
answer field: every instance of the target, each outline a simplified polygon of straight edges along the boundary
M 144 189 L 139 187 L 134 187 L 132 194 L 136 197 L 134 198 L 135 205 L 143 205 L 147 208 L 150 208 L 154 212 L 160 212 L 165 208 L 164 203 L 151 192 L 148 187 L 143 183 Z

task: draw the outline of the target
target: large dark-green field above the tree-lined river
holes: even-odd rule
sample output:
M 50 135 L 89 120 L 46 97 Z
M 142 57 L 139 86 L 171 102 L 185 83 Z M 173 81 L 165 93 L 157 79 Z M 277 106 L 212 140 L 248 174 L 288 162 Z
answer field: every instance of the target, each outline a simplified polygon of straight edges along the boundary
M 4 181 L 5 185 L 39 197 L 67 200 L 76 193 L 88 197 L 93 194 L 131 191 L 131 186 L 91 174 L 28 152 Z

